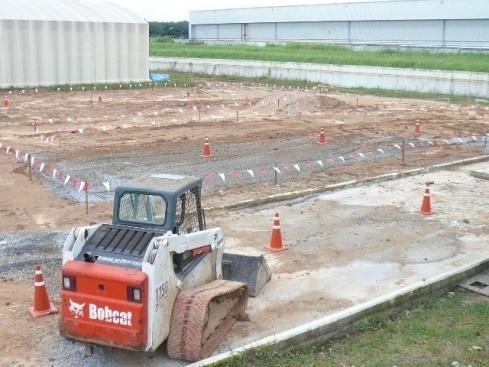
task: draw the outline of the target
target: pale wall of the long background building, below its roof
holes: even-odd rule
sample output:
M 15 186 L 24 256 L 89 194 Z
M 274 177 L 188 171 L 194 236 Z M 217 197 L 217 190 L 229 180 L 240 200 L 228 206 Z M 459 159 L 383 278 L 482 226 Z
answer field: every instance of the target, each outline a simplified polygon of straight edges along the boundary
M 489 49 L 489 20 L 204 24 L 192 25 L 192 39 Z

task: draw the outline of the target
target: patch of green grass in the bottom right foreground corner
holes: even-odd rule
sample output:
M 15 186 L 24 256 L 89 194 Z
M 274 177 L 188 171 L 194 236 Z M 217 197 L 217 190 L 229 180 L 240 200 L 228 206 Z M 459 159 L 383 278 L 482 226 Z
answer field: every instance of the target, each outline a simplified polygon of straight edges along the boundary
M 262 349 L 218 364 L 221 367 L 452 365 L 489 365 L 487 298 L 462 292 L 433 297 L 397 318 L 382 314 L 365 319 L 353 335 L 327 344 L 284 353 Z

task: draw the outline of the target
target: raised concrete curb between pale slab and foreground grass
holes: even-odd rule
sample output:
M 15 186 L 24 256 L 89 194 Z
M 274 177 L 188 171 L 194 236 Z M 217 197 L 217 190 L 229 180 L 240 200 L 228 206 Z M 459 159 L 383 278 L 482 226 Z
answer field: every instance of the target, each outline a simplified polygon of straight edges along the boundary
M 409 303 L 419 300 L 427 295 L 443 294 L 450 289 L 453 289 L 464 279 L 487 269 L 489 269 L 489 258 L 478 260 L 429 280 L 419 281 L 411 286 L 377 297 L 360 305 L 268 336 L 256 342 L 235 348 L 229 352 L 211 356 L 199 362 L 195 362 L 190 366 L 212 366 L 215 363 L 224 362 L 254 348 L 270 347 L 274 350 L 285 350 L 292 347 L 325 342 L 333 337 L 345 335 L 364 317 L 382 311 L 406 307 Z

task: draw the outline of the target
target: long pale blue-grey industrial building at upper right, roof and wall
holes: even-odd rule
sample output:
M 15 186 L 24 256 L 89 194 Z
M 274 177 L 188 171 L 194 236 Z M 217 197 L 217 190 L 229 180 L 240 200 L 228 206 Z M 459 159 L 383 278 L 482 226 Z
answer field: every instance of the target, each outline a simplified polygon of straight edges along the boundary
M 300 1 L 300 0 L 299 0 Z M 489 49 L 489 0 L 395 0 L 203 10 L 190 39 Z

